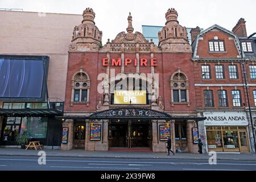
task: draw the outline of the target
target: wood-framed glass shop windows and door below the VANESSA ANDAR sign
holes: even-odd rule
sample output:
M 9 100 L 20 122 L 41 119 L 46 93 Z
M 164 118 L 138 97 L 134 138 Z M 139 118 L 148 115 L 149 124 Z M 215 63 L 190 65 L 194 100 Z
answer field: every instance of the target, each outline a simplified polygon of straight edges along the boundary
M 206 126 L 208 150 L 249 152 L 245 126 Z

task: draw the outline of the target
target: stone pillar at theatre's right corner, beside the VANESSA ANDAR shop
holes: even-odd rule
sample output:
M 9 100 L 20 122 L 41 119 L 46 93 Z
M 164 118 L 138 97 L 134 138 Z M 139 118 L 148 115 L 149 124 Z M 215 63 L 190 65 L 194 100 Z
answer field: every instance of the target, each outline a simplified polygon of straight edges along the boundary
M 192 127 L 197 127 L 196 126 L 196 121 L 194 120 L 188 120 L 187 121 L 187 146 L 188 146 L 188 151 L 197 154 L 199 147 L 197 144 L 193 143 L 193 135 L 192 135 Z

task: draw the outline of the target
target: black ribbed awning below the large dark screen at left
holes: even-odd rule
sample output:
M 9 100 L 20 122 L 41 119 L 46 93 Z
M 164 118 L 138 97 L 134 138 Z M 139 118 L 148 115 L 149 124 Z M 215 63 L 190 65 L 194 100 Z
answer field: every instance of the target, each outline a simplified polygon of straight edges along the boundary
M 2 117 L 55 117 L 63 115 L 59 109 L 0 109 Z

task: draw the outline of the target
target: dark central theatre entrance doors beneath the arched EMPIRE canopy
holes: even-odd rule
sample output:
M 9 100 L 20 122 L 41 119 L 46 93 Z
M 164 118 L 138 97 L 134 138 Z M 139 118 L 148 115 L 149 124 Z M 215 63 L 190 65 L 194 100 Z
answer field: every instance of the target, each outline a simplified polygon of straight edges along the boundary
M 111 120 L 109 124 L 109 147 L 151 148 L 151 121 Z

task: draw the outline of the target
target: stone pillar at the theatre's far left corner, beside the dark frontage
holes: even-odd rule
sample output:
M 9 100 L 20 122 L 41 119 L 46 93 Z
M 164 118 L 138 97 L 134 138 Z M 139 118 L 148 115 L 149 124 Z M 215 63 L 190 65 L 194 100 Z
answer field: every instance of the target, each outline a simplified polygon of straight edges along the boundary
M 62 123 L 62 127 L 68 127 L 68 143 L 61 143 L 61 150 L 72 150 L 73 148 L 73 131 L 74 121 L 73 119 L 67 119 Z

